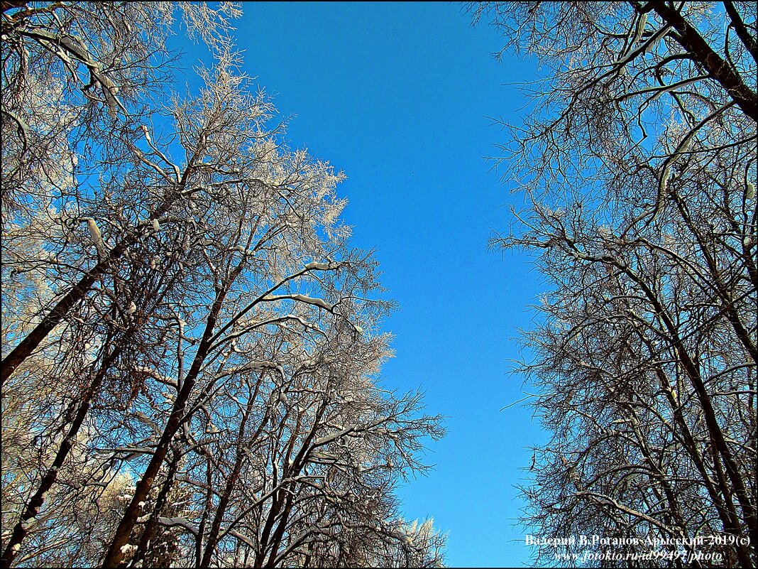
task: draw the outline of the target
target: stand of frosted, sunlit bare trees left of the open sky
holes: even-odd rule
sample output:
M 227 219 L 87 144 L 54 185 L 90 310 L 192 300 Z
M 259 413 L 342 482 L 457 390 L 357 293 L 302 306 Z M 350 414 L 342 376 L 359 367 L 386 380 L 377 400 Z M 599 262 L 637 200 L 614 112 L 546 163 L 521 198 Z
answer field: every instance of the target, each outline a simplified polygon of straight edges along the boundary
M 438 565 L 393 486 L 440 418 L 374 383 L 342 174 L 267 126 L 237 8 L 181 11 L 195 96 L 173 5 L 3 4 L 2 566 Z

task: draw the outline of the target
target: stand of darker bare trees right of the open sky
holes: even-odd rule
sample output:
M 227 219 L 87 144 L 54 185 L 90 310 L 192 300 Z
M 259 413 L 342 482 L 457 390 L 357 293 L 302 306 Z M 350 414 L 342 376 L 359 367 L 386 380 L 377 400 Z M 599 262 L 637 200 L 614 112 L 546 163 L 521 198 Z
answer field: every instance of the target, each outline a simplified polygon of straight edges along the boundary
M 587 564 L 755 566 L 755 5 L 471 9 L 549 70 L 499 158 L 530 205 L 493 240 L 553 285 L 525 335 L 553 432 L 525 521 L 638 538 Z M 641 557 L 653 538 L 688 556 Z

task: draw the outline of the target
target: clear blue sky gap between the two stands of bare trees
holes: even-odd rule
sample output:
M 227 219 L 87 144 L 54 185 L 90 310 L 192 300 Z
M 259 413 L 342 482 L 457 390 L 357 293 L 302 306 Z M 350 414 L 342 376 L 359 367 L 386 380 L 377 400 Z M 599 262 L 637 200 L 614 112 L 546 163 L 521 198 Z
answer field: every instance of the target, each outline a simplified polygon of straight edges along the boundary
M 529 258 L 493 253 L 517 199 L 483 156 L 518 120 L 513 83 L 534 66 L 491 57 L 503 39 L 447 3 L 248 3 L 236 25 L 245 69 L 292 116 L 287 139 L 347 174 L 340 195 L 353 244 L 375 248 L 399 310 L 385 329 L 389 388 L 421 388 L 447 436 L 429 445 L 428 476 L 399 490 L 406 518 L 449 532 L 453 567 L 519 566 L 515 483 L 544 439 L 509 376 L 515 337 L 543 291 Z M 189 55 L 189 54 L 188 54 Z M 186 61 L 186 60 L 185 60 Z

